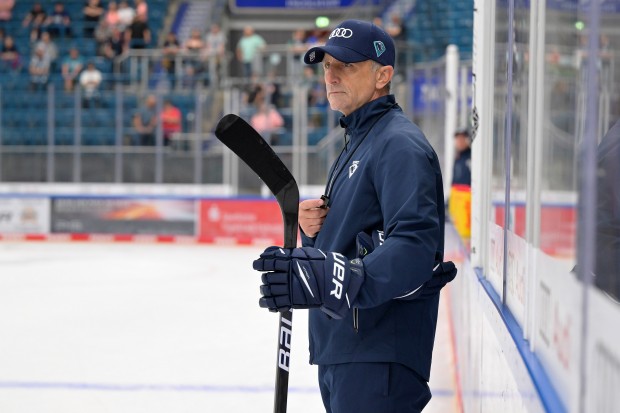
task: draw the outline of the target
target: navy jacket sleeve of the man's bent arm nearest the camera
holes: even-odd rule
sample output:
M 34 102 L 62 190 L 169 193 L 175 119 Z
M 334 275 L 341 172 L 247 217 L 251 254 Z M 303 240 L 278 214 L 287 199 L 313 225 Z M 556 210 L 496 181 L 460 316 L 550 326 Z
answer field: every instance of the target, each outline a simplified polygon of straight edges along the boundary
M 390 137 L 376 159 L 373 184 L 385 241 L 363 259 L 366 279 L 355 307 L 378 306 L 432 276 L 443 245 L 443 189 L 437 156 L 423 137 L 420 140 Z

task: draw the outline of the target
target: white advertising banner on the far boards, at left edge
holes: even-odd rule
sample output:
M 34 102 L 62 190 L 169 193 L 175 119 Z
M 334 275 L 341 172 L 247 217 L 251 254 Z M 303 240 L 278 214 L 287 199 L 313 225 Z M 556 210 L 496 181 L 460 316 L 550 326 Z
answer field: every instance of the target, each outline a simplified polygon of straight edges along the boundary
M 47 234 L 47 198 L 0 198 L 0 234 Z

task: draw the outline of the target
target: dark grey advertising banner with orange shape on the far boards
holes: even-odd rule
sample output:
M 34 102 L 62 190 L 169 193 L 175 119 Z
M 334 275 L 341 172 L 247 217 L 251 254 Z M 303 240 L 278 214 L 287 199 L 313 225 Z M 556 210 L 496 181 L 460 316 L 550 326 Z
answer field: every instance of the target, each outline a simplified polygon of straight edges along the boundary
M 187 199 L 52 198 L 52 233 L 195 235 L 196 202 Z

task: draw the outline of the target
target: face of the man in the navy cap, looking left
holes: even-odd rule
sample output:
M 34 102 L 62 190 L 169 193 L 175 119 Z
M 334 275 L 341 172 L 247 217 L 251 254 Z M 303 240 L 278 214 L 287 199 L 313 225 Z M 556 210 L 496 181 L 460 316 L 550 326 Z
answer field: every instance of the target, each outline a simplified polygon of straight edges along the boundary
M 371 60 L 344 63 L 325 54 L 323 58 L 327 100 L 333 110 L 349 115 L 364 104 L 380 96 L 379 70 Z

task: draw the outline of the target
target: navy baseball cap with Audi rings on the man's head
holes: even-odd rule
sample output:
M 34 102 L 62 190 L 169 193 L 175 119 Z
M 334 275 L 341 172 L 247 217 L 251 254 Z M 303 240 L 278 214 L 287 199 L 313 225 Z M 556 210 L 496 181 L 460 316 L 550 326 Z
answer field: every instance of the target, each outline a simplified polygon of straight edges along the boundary
M 325 53 L 345 63 L 374 60 L 383 66 L 394 66 L 394 40 L 379 26 L 361 20 L 345 20 L 329 35 L 324 46 L 311 48 L 304 55 L 306 64 L 323 61 Z

